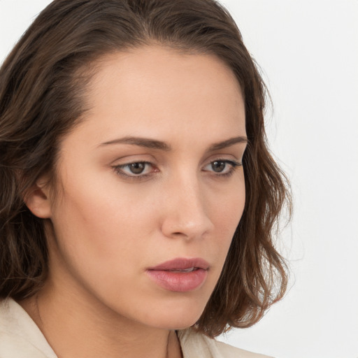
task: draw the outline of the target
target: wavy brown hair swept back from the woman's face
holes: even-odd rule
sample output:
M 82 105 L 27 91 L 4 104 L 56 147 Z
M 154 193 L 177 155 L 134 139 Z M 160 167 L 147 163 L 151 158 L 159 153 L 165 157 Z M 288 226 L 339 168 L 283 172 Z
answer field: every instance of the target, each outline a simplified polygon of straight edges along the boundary
M 23 198 L 43 173 L 55 178 L 59 140 L 86 110 L 87 69 L 110 52 L 153 42 L 219 57 L 245 99 L 245 209 L 195 325 L 217 336 L 254 324 L 285 293 L 272 231 L 290 202 L 266 145 L 264 83 L 234 20 L 214 0 L 55 0 L 22 36 L 0 70 L 0 297 L 27 298 L 46 279 L 43 220 Z

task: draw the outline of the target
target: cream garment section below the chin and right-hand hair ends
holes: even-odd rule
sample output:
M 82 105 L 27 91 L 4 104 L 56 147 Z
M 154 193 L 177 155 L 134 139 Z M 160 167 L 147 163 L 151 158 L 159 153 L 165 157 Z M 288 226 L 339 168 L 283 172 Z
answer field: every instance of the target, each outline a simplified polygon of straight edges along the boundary
M 269 358 L 208 338 L 192 329 L 178 331 L 184 358 Z

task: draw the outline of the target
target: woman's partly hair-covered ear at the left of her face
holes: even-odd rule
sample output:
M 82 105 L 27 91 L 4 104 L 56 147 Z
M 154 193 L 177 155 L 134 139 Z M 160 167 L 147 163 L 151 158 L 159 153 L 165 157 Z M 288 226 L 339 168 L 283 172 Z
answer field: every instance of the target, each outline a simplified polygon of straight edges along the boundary
M 27 208 L 37 217 L 51 217 L 50 188 L 48 180 L 39 178 L 24 196 Z

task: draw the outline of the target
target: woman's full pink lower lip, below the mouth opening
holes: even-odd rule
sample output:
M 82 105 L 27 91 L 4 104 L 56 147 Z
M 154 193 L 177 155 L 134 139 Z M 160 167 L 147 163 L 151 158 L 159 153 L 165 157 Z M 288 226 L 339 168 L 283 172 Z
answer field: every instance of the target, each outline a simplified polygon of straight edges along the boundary
M 208 271 L 203 268 L 191 272 L 173 272 L 164 270 L 147 270 L 149 277 L 159 286 L 173 292 L 189 292 L 201 287 Z

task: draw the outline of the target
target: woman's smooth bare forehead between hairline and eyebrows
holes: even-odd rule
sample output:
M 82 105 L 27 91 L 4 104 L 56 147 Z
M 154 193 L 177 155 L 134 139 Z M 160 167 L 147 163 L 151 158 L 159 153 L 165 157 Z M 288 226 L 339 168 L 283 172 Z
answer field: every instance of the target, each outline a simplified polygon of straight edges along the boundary
M 84 123 L 98 141 L 112 134 L 175 139 L 194 131 L 213 142 L 245 135 L 241 87 L 213 55 L 159 45 L 108 55 L 96 66 L 87 103 Z

